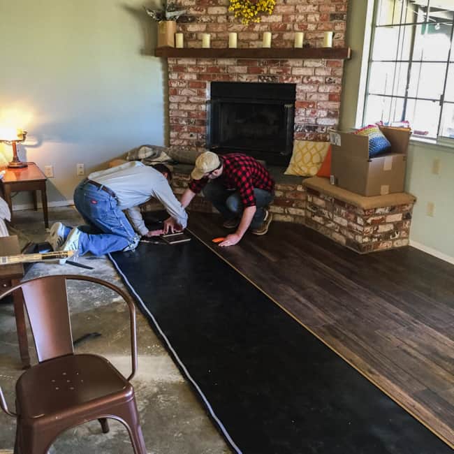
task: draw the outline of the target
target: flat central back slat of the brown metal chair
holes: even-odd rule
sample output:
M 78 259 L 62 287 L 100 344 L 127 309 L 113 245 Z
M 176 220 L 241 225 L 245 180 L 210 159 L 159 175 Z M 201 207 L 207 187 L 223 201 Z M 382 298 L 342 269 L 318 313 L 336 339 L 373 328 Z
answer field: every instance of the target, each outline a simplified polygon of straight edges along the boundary
M 38 361 L 74 353 L 65 277 L 32 279 L 22 284 L 22 293 Z

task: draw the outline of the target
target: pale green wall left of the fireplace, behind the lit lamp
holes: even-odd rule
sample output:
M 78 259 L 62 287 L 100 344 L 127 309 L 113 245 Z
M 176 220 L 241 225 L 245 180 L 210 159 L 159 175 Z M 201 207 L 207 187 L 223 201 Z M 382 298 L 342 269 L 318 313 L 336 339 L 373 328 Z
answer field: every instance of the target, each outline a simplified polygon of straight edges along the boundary
M 54 166 L 51 205 L 73 198 L 76 163 L 89 173 L 137 145 L 163 144 L 165 71 L 143 4 L 154 3 L 0 0 L 0 117 L 31 113 L 26 159 Z M 0 160 L 8 154 L 1 145 Z

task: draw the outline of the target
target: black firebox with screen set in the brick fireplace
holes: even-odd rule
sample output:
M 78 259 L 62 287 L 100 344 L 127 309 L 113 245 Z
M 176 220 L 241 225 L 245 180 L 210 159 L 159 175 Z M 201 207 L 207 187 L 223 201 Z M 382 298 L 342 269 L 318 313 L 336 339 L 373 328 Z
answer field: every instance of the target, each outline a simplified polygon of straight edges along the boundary
M 286 165 L 293 148 L 295 84 L 212 82 L 207 147 Z

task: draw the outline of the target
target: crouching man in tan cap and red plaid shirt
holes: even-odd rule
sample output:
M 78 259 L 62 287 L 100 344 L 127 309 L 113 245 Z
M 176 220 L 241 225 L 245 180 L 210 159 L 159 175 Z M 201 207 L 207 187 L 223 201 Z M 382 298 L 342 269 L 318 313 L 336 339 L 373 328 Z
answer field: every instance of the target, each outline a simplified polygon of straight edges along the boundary
M 272 214 L 265 207 L 272 201 L 274 181 L 256 159 L 241 153 L 218 156 L 205 152 L 196 159 L 191 177 L 182 196 L 183 207 L 203 190 L 224 217 L 224 227 L 236 228 L 220 246 L 237 244 L 248 228 L 255 235 L 268 232 Z

